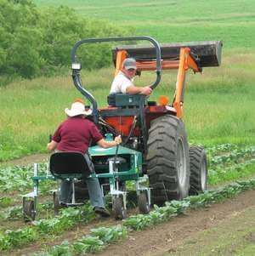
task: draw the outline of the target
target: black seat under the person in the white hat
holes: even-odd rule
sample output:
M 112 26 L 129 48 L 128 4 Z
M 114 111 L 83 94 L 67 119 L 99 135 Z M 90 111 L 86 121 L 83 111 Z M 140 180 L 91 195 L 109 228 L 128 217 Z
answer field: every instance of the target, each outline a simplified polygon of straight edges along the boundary
M 85 179 L 91 173 L 79 152 L 56 152 L 50 156 L 49 171 L 57 179 Z

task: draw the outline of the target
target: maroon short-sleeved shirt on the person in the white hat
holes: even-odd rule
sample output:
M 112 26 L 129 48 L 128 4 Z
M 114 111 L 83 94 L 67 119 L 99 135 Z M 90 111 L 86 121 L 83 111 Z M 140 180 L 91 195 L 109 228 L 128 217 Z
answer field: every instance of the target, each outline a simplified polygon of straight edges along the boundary
M 91 140 L 103 139 L 94 122 L 82 117 L 70 117 L 59 125 L 52 138 L 58 142 L 59 151 L 75 151 L 85 153 Z

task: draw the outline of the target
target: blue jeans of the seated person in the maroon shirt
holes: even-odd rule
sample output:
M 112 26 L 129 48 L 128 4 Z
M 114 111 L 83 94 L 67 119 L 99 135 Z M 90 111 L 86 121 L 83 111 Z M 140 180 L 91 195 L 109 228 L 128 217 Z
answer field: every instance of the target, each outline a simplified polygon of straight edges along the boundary
M 94 172 L 94 165 L 90 159 L 88 159 L 88 155 L 85 156 L 88 166 L 92 167 L 92 172 Z M 89 162 L 90 161 L 90 162 Z M 104 198 L 101 192 L 101 188 L 99 185 L 99 179 L 96 177 L 85 179 L 88 186 L 88 194 L 89 199 L 93 207 L 105 208 Z M 72 196 L 72 187 L 71 181 L 62 180 L 60 185 L 60 196 L 59 202 L 61 203 L 70 203 Z

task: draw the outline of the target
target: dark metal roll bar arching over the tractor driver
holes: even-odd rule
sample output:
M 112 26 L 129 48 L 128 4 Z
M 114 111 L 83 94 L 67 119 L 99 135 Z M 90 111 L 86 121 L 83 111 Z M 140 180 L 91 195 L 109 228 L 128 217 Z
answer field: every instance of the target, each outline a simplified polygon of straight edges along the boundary
M 72 79 L 75 87 L 80 91 L 80 93 L 85 96 L 93 106 L 93 116 L 94 122 L 99 122 L 99 111 L 98 104 L 94 96 L 88 92 L 82 86 L 82 81 L 80 79 L 79 71 L 82 69 L 82 65 L 77 61 L 77 48 L 79 48 L 83 43 L 106 43 L 106 42 L 123 42 L 123 41 L 149 41 L 156 48 L 156 81 L 150 85 L 150 88 L 154 89 L 161 81 L 161 48 L 159 43 L 152 37 L 105 37 L 105 38 L 88 38 L 82 39 L 75 43 L 71 49 L 71 69 L 72 69 Z

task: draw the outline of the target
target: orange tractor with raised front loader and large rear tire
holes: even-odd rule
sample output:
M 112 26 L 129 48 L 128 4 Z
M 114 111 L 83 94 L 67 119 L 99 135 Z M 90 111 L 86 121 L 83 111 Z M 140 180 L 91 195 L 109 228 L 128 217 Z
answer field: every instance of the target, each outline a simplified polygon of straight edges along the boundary
M 112 94 L 108 96 L 109 106 L 98 108 L 94 96 L 88 92 L 80 80 L 81 65 L 77 60 L 77 48 L 87 43 L 149 41 L 151 45 L 118 46 L 112 50 L 116 73 L 121 70 L 127 57 L 137 61 L 138 72 L 156 71 L 156 81 L 150 85 L 156 89 L 161 81 L 161 70 L 177 69 L 178 76 L 173 103 L 167 105 L 150 101 L 144 95 Z M 72 78 L 76 88 L 93 106 L 94 122 L 103 134 L 121 134 L 122 149 L 117 157 L 125 157 L 122 150 L 138 151 L 141 168 L 138 177 L 147 174 L 151 189 L 151 202 L 163 204 L 168 200 L 182 199 L 190 194 L 207 190 L 207 157 L 200 146 L 190 146 L 184 128 L 184 80 L 191 69 L 201 72 L 204 66 L 220 65 L 221 42 L 182 43 L 159 45 L 151 37 L 90 38 L 77 42 L 71 51 Z M 164 98 L 162 99 L 164 101 Z M 166 101 L 166 100 L 165 100 Z M 90 153 L 95 166 L 112 157 L 112 150 L 104 150 L 98 155 L 99 148 L 91 147 Z M 106 161 L 107 162 L 107 161 Z M 125 180 L 124 170 L 118 175 Z M 100 173 L 97 171 L 97 173 Z M 123 175 L 122 175 L 123 174 Z M 143 194 L 144 202 L 149 193 Z M 142 200 L 139 200 L 142 201 Z M 144 206 L 142 207 L 144 208 Z

